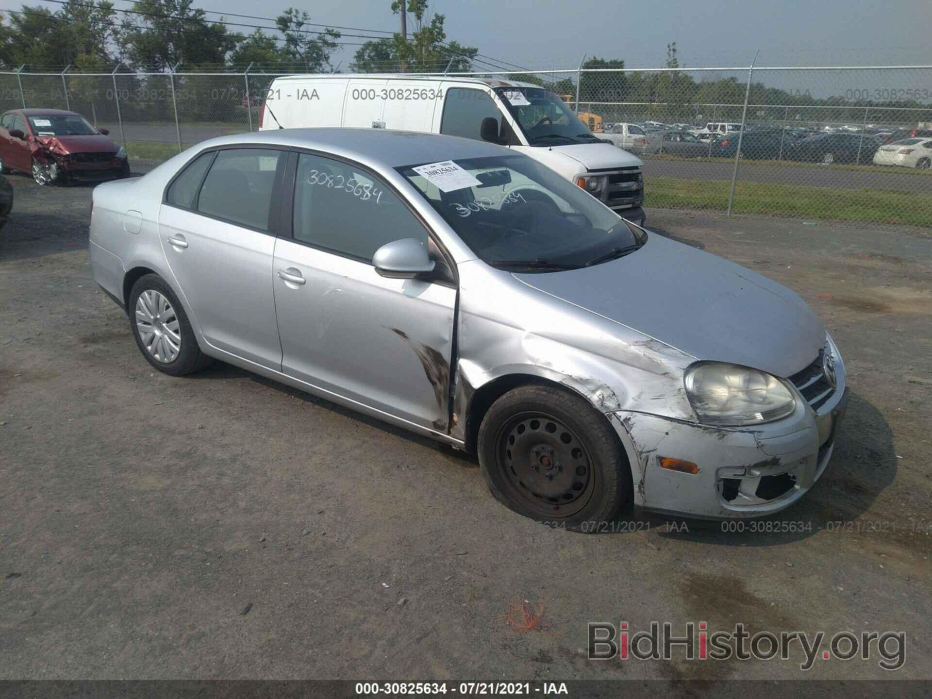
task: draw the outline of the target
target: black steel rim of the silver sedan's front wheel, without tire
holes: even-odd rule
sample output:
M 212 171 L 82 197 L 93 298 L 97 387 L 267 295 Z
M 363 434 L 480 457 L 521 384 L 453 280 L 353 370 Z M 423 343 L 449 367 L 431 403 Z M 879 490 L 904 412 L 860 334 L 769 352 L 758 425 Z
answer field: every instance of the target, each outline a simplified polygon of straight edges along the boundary
M 579 436 L 544 413 L 522 413 L 499 432 L 498 467 L 512 491 L 538 514 L 567 517 L 583 509 L 596 485 Z

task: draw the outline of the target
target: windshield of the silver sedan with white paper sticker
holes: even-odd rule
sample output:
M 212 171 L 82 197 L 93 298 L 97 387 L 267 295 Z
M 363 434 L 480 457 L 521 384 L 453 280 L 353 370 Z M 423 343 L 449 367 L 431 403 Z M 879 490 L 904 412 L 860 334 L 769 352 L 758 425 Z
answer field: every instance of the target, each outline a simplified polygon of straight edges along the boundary
M 398 171 L 492 267 L 541 272 L 588 267 L 632 253 L 647 240 L 643 230 L 527 156 Z

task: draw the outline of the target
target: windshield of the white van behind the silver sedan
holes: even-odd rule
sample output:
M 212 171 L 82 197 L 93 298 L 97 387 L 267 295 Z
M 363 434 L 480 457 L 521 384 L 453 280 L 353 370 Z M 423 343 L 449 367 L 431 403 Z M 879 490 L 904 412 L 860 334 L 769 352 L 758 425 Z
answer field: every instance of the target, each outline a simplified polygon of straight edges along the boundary
M 567 103 L 549 89 L 498 88 L 501 101 L 508 107 L 530 145 L 567 145 L 598 143 L 592 131 L 580 121 Z

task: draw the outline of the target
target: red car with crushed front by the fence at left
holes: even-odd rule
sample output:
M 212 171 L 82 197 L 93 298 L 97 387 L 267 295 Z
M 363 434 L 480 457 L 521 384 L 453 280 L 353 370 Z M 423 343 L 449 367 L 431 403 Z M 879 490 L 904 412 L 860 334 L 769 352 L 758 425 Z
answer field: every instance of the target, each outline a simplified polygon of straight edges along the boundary
M 127 177 L 126 150 L 87 119 L 62 109 L 12 109 L 0 117 L 0 172 L 29 172 L 39 185 Z

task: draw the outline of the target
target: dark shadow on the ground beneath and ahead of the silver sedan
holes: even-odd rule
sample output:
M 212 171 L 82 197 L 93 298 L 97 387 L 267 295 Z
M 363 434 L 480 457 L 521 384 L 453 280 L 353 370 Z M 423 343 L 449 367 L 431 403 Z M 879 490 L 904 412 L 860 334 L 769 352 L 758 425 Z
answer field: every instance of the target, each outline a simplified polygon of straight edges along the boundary
M 223 362 L 192 375 L 200 380 L 248 378 L 262 386 L 298 400 L 318 405 L 338 415 L 362 422 L 376 430 L 398 436 L 413 444 L 442 452 L 459 466 L 478 469 L 470 454 L 408 432 L 351 408 L 260 377 Z M 634 508 L 612 522 L 597 523 L 596 533 L 635 534 L 657 530 L 661 537 L 720 546 L 773 546 L 806 539 L 822 529 L 845 528 L 870 512 L 877 495 L 893 483 L 897 473 L 893 432 L 883 414 L 857 393 L 851 393 L 845 419 L 835 438 L 835 451 L 825 473 L 801 500 L 787 510 L 753 520 L 702 520 L 657 514 Z M 879 523 L 880 517 L 870 518 Z M 850 525 L 848 525 L 850 526 Z

